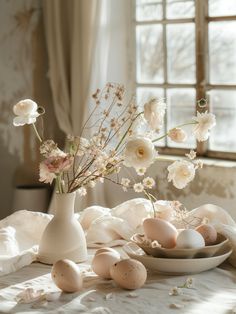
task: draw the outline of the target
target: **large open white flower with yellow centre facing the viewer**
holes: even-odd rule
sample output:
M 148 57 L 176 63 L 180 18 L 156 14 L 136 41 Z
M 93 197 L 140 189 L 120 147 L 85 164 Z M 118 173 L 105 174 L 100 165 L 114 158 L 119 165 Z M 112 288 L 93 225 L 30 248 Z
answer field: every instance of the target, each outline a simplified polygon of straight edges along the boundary
M 148 168 L 157 156 L 155 146 L 149 138 L 131 138 L 125 146 L 124 165 L 135 169 Z

